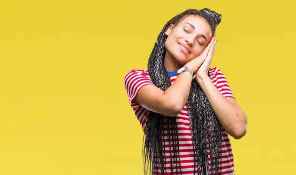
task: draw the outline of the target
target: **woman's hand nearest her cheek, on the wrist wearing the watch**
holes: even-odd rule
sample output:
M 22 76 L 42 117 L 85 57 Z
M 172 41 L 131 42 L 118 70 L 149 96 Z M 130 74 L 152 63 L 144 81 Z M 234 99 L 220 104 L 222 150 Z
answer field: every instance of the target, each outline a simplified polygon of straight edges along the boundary
M 192 74 L 195 74 L 196 71 L 199 69 L 200 65 L 206 60 L 210 48 L 212 47 L 214 42 L 215 37 L 211 39 L 211 42 L 207 45 L 207 47 L 203 50 L 203 52 L 200 55 L 198 55 L 197 57 L 193 58 L 191 61 L 185 64 L 185 66 L 192 71 Z

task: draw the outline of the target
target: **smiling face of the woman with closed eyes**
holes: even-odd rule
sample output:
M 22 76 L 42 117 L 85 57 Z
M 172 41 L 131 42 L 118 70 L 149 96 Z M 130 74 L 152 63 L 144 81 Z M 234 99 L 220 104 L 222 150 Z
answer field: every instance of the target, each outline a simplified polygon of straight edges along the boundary
M 165 32 L 168 36 L 166 57 L 183 66 L 202 53 L 212 38 L 210 24 L 200 16 L 187 16 L 178 25 L 171 25 Z

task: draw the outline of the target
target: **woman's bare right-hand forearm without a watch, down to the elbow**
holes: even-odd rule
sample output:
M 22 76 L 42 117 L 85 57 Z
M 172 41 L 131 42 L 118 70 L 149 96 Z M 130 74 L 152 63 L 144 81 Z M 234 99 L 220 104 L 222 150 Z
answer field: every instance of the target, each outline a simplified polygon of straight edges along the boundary
M 227 100 L 208 76 L 199 77 L 197 82 L 207 96 L 223 128 L 234 138 L 241 138 L 246 133 L 247 125 L 243 110 L 237 104 Z

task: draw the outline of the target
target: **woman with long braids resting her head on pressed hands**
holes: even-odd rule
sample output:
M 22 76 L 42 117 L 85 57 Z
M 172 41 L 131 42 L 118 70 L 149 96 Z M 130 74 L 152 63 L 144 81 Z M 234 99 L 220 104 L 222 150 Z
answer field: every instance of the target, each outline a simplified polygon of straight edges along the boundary
M 247 117 L 220 69 L 210 68 L 221 14 L 188 9 L 164 26 L 148 69 L 124 84 L 146 135 L 144 167 L 156 175 L 233 175 L 228 134 L 239 139 Z M 173 173 L 172 173 L 173 172 Z

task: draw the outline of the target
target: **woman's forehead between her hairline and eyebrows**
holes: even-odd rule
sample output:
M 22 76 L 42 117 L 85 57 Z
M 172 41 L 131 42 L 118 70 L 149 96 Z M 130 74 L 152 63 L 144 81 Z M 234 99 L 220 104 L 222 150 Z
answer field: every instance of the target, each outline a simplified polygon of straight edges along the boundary
M 185 23 L 192 24 L 195 27 L 194 31 L 198 33 L 203 33 L 204 35 L 211 36 L 211 26 L 205 18 L 201 16 L 189 15 L 185 17 L 182 21 L 180 21 L 178 25 L 183 26 L 186 25 Z

